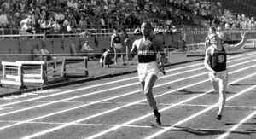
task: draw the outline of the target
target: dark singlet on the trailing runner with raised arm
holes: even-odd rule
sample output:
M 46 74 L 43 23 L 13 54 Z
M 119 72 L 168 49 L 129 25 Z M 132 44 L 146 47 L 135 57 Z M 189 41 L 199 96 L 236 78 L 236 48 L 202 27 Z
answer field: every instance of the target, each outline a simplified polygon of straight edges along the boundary
M 210 58 L 210 66 L 215 72 L 226 70 L 227 53 L 222 46 L 221 50 L 214 49 L 214 53 Z

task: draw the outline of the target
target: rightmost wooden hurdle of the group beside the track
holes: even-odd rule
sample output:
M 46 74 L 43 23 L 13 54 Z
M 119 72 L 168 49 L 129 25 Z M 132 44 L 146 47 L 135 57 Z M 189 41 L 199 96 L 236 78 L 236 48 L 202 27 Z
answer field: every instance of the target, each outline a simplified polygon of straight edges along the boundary
M 84 77 L 88 76 L 88 57 L 86 56 L 63 56 L 63 57 L 53 57 L 54 61 L 57 59 L 61 59 L 62 62 L 62 69 L 61 69 L 61 77 L 66 78 L 68 76 L 74 76 L 74 75 L 83 75 Z M 83 61 L 84 62 L 84 68 L 83 72 L 75 72 L 75 71 L 67 71 L 67 63 L 69 61 Z

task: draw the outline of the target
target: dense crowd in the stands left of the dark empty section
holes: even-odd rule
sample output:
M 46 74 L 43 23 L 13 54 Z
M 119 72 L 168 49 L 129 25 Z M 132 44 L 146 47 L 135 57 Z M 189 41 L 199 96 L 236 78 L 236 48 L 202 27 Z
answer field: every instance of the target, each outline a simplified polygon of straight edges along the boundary
M 189 19 L 156 0 L 0 0 L 0 26 L 22 32 L 75 32 L 85 28 L 154 25 Z M 173 14 L 173 13 L 177 13 Z M 185 18 L 185 19 L 184 19 Z M 162 19 L 162 20 L 160 20 Z

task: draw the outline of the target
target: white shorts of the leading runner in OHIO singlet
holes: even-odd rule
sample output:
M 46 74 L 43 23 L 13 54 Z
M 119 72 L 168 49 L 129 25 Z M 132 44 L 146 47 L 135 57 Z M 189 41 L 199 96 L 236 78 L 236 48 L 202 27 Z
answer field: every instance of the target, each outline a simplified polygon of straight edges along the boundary
M 148 63 L 138 63 L 137 73 L 140 82 L 143 82 L 149 77 L 148 75 L 157 76 L 160 72 L 158 64 L 156 61 L 148 62 Z

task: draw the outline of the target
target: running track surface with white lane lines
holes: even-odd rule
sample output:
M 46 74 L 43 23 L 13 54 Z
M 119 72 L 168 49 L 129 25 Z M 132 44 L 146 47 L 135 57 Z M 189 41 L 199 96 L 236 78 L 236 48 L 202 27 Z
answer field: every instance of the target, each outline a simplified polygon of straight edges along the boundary
M 1 98 L 0 138 L 256 138 L 256 52 L 230 55 L 223 119 L 203 61 L 166 68 L 154 86 L 162 125 L 137 73 Z

